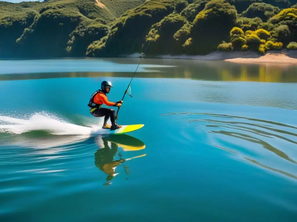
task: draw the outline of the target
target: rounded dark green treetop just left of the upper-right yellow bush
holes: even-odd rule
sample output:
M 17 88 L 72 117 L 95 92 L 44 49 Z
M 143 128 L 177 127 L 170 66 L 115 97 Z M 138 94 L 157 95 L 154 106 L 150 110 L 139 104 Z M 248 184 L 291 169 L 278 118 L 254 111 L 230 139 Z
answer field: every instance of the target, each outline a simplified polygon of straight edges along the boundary
M 280 9 L 266 3 L 253 3 L 247 10 L 243 11 L 241 15 L 248 18 L 259 17 L 264 22 L 267 22 L 268 18 L 278 14 Z

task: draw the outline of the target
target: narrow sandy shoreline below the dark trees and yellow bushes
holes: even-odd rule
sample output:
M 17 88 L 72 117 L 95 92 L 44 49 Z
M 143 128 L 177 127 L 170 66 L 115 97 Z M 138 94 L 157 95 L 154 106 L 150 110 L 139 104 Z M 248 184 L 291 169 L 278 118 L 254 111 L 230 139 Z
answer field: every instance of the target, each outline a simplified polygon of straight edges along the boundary
M 133 53 L 123 55 L 127 58 L 141 58 L 143 53 Z M 297 65 L 297 50 L 271 50 L 264 54 L 252 51 L 233 51 L 233 52 L 211 52 L 207 55 L 157 55 L 144 58 L 151 59 L 190 59 L 190 60 L 210 60 L 210 61 L 226 61 L 233 63 L 249 63 L 249 64 L 277 64 L 277 65 Z

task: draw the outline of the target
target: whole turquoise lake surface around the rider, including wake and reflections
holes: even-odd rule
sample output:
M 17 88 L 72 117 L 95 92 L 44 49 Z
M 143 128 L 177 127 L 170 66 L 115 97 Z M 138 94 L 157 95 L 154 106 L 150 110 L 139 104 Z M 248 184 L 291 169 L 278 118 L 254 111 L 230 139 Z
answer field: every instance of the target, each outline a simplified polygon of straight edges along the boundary
M 297 67 L 143 59 L 118 123 L 145 126 L 90 136 L 139 60 L 0 61 L 0 221 L 296 221 Z

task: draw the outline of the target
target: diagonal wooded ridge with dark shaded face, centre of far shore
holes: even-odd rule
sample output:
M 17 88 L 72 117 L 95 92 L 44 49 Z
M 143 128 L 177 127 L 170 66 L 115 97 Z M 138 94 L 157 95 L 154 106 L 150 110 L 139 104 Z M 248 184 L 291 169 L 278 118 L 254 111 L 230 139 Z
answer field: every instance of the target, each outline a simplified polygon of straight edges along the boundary
M 140 52 L 151 26 L 166 15 L 187 5 L 185 0 L 148 1 L 125 12 L 100 41 L 93 42 L 87 50 L 93 56 L 119 56 Z

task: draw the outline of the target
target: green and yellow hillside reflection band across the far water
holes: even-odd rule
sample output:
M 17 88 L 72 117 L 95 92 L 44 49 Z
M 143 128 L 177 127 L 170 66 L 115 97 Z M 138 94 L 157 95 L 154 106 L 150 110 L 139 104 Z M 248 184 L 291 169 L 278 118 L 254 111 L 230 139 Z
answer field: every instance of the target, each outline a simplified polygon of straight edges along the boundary
M 127 60 L 127 59 L 126 59 Z M 139 60 L 131 60 L 137 62 Z M 126 64 L 130 62 L 126 61 Z M 124 59 L 114 59 L 124 63 Z M 297 82 L 296 66 L 274 64 L 233 64 L 224 61 L 200 61 L 179 59 L 143 59 L 141 64 L 155 64 L 145 67 L 146 72 L 137 72 L 137 78 L 189 78 L 209 81 L 256 81 L 256 82 Z M 158 67 L 165 65 L 168 67 Z M 171 66 L 171 67 L 170 67 Z M 135 63 L 135 68 L 137 64 Z M 70 73 L 24 73 L 0 75 L 0 80 L 25 80 L 44 78 L 75 77 L 132 77 L 132 72 L 70 72 Z

